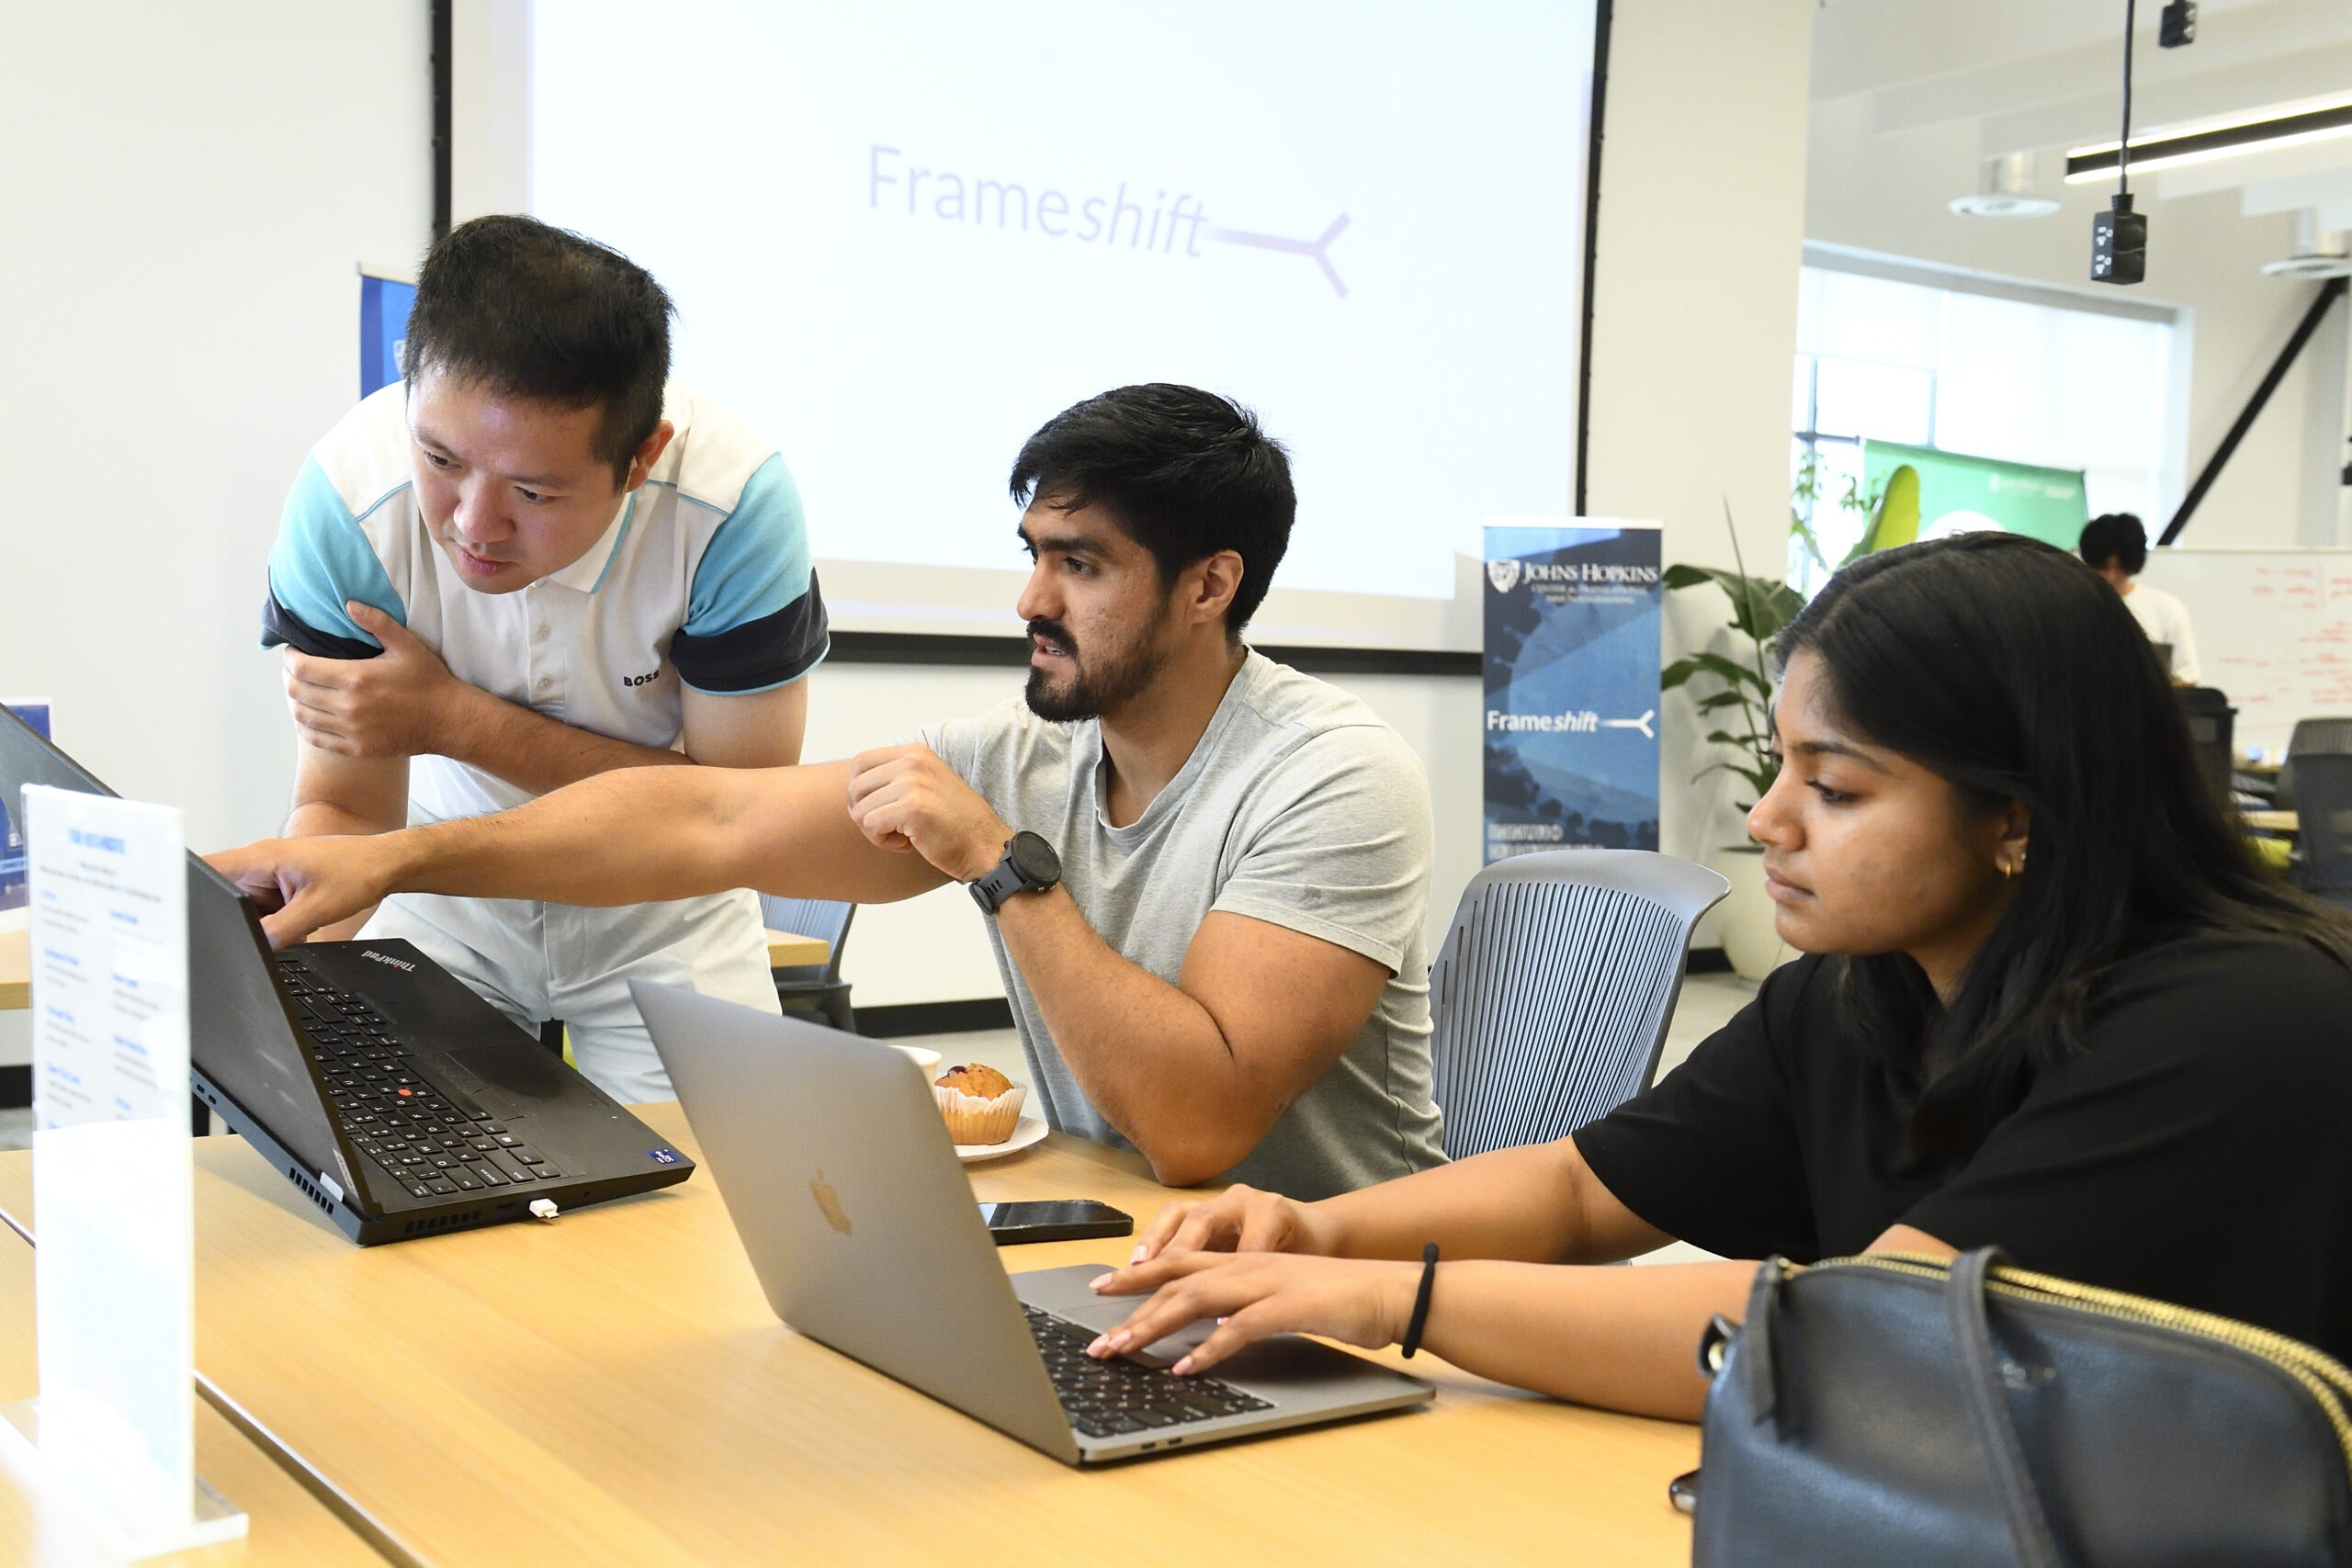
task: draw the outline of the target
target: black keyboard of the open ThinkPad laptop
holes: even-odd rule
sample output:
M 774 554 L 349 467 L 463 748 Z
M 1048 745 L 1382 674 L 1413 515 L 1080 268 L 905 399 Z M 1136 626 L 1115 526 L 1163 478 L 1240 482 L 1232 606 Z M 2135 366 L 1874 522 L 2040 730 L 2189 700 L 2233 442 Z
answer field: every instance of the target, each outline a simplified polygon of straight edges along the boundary
M 564 1173 L 470 1098 L 435 1088 L 365 997 L 336 990 L 294 959 L 278 976 L 318 1046 L 327 1095 L 350 1145 L 409 1194 L 456 1197 L 553 1182 Z

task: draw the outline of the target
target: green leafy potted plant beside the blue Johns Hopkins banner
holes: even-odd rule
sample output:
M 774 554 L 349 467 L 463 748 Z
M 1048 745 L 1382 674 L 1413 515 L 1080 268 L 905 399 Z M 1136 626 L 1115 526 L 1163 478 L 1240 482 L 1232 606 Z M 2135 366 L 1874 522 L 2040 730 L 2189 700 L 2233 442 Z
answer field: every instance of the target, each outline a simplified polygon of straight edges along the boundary
M 1731 527 L 1729 510 L 1724 527 Z M 1750 799 L 1740 804 L 1740 818 L 1745 820 L 1757 799 L 1771 790 L 1773 778 L 1780 776 L 1780 759 L 1773 755 L 1771 743 L 1769 658 L 1773 639 L 1780 635 L 1780 628 L 1797 618 L 1804 599 L 1783 581 L 1748 576 L 1736 529 L 1731 534 L 1731 559 L 1738 564 L 1736 571 L 1668 567 L 1665 585 L 1703 588 L 1712 583 L 1722 588 L 1731 602 L 1729 632 L 1738 656 L 1689 654 L 1665 665 L 1658 684 L 1672 691 L 1675 686 L 1698 682 L 1693 686 L 1698 715 L 1715 724 L 1708 731 L 1708 741 L 1724 748 L 1726 755 L 1719 755 L 1691 778 L 1696 783 L 1708 773 L 1722 771 L 1745 780 L 1752 790 Z M 1764 851 L 1755 842 L 1724 844 L 1715 856 L 1715 870 L 1731 879 L 1731 893 L 1724 898 L 1719 917 L 1724 957 L 1731 959 L 1731 969 L 1743 978 L 1762 980 L 1780 961 L 1780 936 L 1773 931 L 1771 898 L 1764 893 Z

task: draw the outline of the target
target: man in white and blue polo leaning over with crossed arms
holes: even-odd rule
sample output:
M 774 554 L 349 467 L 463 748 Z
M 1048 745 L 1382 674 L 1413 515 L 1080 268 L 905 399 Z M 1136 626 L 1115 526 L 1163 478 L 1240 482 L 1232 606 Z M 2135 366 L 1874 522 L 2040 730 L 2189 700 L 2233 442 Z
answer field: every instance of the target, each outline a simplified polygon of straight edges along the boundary
M 402 381 L 313 449 L 270 550 L 289 837 L 503 811 L 626 766 L 788 766 L 826 656 L 776 449 L 668 381 L 670 301 L 522 216 L 433 247 Z M 343 922 L 320 936 L 350 936 Z M 628 980 L 776 1011 L 746 891 L 626 907 L 395 896 L 416 943 L 623 1103 L 670 1095 Z

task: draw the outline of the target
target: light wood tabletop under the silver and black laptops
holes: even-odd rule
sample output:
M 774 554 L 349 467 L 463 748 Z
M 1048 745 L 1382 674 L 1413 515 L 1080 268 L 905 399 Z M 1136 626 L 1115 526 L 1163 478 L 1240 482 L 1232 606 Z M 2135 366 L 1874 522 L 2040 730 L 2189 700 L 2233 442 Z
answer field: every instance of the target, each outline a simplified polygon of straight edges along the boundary
M 640 1114 L 694 1150 L 675 1105 Z M 1430 1410 L 1077 1472 L 779 1324 L 708 1173 L 553 1225 L 355 1248 L 240 1138 L 202 1140 L 195 1171 L 207 1396 L 397 1561 L 1689 1559 L 1665 1483 L 1696 1465 L 1696 1427 L 1432 1356 L 1411 1368 L 1439 1385 Z M 1169 1197 L 1061 1135 L 971 1175 L 988 1201 L 1098 1197 L 1138 1220 Z M 0 1154 L 0 1213 L 31 1213 L 26 1154 Z

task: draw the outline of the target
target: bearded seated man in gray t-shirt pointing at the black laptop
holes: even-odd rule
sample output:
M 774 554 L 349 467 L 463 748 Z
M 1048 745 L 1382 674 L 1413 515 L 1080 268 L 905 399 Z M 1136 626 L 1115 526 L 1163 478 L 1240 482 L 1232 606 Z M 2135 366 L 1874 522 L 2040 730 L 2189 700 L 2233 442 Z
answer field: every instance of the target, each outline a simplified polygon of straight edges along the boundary
M 1298 1199 L 1444 1161 L 1421 764 L 1362 703 L 1242 644 L 1296 512 L 1282 447 L 1211 393 L 1129 386 L 1047 421 L 1014 498 L 1030 672 L 990 717 L 851 762 L 621 769 L 499 816 L 214 863 L 285 900 L 263 919 L 280 943 L 388 891 L 887 903 L 962 882 L 1054 1126 L 1136 1147 L 1176 1187 Z

